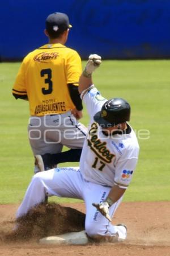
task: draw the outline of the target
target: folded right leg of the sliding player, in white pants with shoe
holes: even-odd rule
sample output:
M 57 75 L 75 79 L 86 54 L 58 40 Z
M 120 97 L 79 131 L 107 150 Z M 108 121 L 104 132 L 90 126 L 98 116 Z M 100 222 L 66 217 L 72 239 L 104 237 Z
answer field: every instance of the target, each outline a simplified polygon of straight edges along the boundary
M 106 239 L 107 241 L 120 241 L 126 239 L 126 228 L 122 225 L 112 225 L 92 203 L 100 203 L 104 201 L 111 188 L 103 187 L 99 184 L 88 183 L 84 189 L 84 201 L 86 203 L 86 233 L 90 237 L 97 239 Z M 120 205 L 122 198 L 118 200 L 112 207 L 109 208 L 109 215 L 111 218 L 118 205 Z

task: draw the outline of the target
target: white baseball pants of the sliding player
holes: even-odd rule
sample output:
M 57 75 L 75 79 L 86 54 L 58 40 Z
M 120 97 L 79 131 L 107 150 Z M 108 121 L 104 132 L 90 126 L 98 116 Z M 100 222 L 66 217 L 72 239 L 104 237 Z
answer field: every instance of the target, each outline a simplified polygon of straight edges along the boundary
M 107 236 L 117 240 L 126 239 L 124 226 L 114 226 L 105 218 L 92 203 L 99 203 L 106 199 L 111 188 L 91 183 L 83 179 L 78 167 L 55 168 L 39 172 L 32 177 L 16 218 L 23 216 L 28 210 L 41 203 L 45 195 L 82 199 L 86 204 L 85 229 L 88 236 Z M 118 200 L 109 208 L 113 217 L 118 205 Z

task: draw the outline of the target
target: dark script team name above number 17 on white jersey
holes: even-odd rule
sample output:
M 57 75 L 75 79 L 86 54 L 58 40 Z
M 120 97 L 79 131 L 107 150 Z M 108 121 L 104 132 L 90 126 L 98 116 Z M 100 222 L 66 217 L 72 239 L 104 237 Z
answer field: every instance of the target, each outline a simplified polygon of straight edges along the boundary
M 87 139 L 88 146 L 92 151 L 103 161 L 111 163 L 114 157 L 107 148 L 107 142 L 101 142 L 97 137 L 97 123 L 92 123 L 91 129 L 88 132 L 90 139 Z

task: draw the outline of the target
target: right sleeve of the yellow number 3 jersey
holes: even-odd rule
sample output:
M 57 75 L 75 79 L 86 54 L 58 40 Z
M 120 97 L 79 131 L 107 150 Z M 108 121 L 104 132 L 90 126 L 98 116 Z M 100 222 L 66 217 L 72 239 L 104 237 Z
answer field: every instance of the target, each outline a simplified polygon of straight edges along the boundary
M 71 52 L 66 63 L 66 82 L 78 86 L 79 77 L 82 73 L 82 61 L 76 51 Z

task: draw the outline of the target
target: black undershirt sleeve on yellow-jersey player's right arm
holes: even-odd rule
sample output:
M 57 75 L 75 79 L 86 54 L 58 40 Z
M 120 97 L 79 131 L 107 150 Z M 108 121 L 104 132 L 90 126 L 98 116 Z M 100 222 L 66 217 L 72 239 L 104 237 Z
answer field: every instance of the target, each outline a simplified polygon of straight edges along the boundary
M 76 109 L 79 111 L 82 110 L 83 105 L 82 105 L 82 100 L 80 98 L 80 94 L 78 91 L 78 86 L 76 86 L 74 84 L 68 84 L 68 88 L 69 88 L 71 100 L 73 101 Z

